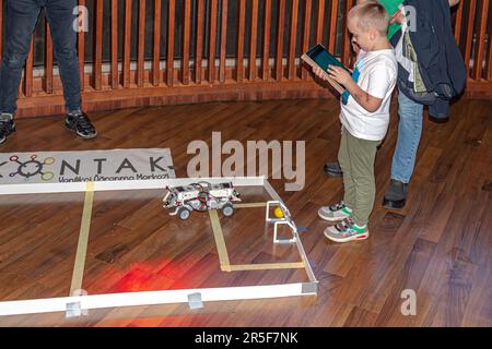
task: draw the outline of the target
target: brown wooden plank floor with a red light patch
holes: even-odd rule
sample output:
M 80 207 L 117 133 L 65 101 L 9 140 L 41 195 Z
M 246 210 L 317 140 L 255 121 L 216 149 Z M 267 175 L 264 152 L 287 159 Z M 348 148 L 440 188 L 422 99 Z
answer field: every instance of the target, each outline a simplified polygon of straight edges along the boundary
M 186 154 L 188 143 L 210 143 L 212 131 L 222 132 L 223 142 L 306 141 L 304 190 L 284 192 L 283 181 L 272 183 L 296 224 L 307 228 L 302 241 L 320 286 L 317 298 L 206 303 L 194 311 L 185 304 L 106 309 L 71 320 L 61 313 L 7 316 L 0 318 L 0 326 L 492 326 L 492 101 L 460 100 L 444 124 L 425 118 L 407 207 L 390 212 L 380 202 L 397 136 L 396 108 L 394 104 L 391 128 L 376 160 L 372 236 L 348 244 L 328 242 L 323 236 L 327 224 L 317 217 L 320 205 L 342 197 L 341 180 L 321 172 L 324 163 L 336 159 L 338 152 L 335 99 L 99 112 L 93 115 L 99 137 L 89 142 L 67 133 L 61 117 L 19 120 L 17 133 L 0 152 L 169 147 L 178 177 L 186 176 L 191 158 Z M 162 282 L 159 287 L 187 286 L 190 279 L 200 285 L 218 282 L 216 267 L 211 267 L 216 266 L 216 251 L 212 244 L 207 248 L 210 237 L 200 230 L 199 218 L 190 221 L 196 236 L 186 227 L 187 232 L 174 241 L 166 237 L 161 218 L 150 219 L 164 217 L 161 208 L 148 204 L 149 209 L 142 209 L 149 200 L 144 195 L 105 195 L 96 197 L 93 214 L 84 274 L 90 293 L 136 290 L 152 281 Z M 82 194 L 0 197 L 2 300 L 68 296 L 82 203 Z M 247 242 L 247 227 L 257 218 L 242 219 L 236 241 Z M 174 225 L 179 230 L 183 222 Z M 160 264 L 169 249 L 176 268 Z M 268 249 L 255 251 L 258 260 L 276 258 Z M 137 276 L 131 274 L 134 270 Z M 268 272 L 231 282 L 293 277 L 294 273 Z M 415 316 L 400 312 L 405 289 L 417 292 Z

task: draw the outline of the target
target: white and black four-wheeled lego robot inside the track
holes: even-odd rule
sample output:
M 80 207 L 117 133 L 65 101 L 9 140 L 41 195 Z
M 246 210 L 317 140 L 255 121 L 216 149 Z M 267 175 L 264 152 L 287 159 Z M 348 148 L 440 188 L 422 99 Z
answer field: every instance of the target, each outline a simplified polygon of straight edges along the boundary
M 188 219 L 194 210 L 209 209 L 221 209 L 224 216 L 231 217 L 234 214 L 233 203 L 241 201 L 232 183 L 199 182 L 166 189 L 168 192 L 163 198 L 164 208 L 174 209 L 169 215 L 183 220 Z

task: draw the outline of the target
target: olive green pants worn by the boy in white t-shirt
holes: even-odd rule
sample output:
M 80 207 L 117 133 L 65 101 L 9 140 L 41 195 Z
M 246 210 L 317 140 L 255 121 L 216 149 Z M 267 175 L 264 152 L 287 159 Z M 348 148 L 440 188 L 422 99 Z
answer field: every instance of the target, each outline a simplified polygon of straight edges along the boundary
M 342 127 L 338 161 L 343 171 L 343 202 L 352 209 L 352 219 L 359 227 L 367 225 L 374 207 L 374 161 L 380 142 L 358 139 Z

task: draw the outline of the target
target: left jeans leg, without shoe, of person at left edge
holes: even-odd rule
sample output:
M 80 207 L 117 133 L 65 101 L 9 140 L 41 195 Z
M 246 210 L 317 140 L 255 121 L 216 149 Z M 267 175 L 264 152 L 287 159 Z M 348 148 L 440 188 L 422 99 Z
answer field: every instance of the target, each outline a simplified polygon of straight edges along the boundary
M 13 116 L 22 71 L 30 52 L 31 37 L 39 16 L 36 0 L 8 0 L 5 50 L 0 72 L 0 111 Z

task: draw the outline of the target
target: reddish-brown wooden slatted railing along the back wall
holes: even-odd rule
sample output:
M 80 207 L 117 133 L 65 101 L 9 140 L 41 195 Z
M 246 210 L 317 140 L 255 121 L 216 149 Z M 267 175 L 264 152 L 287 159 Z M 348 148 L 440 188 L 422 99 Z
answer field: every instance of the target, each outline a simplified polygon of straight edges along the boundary
M 302 68 L 300 55 L 323 43 L 350 64 L 345 22 L 354 0 L 231 1 L 237 2 L 237 11 L 227 11 L 227 0 L 93 0 L 92 29 L 78 34 L 84 108 L 330 96 Z M 0 0 L 0 21 L 3 4 Z M 119 7 L 125 9 L 122 26 Z M 110 21 L 103 21 L 107 11 Z M 491 12 L 489 0 L 461 0 L 454 9 L 456 40 L 469 70 L 467 95 L 472 97 L 492 97 Z M 236 35 L 227 33 L 227 23 L 235 23 Z M 3 21 L 0 37 L 2 28 Z M 103 45 L 105 29 L 110 33 L 109 47 Z M 93 43 L 92 59 L 86 57 L 87 43 Z M 231 43 L 234 55 L 227 53 Z M 149 45 L 151 57 L 145 55 Z M 20 88 L 19 116 L 62 113 L 47 25 L 42 67 L 34 64 L 33 47 Z M 0 40 L 0 55 L 2 49 Z M 109 50 L 108 60 L 103 59 L 104 50 Z

